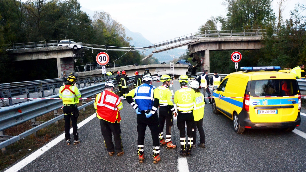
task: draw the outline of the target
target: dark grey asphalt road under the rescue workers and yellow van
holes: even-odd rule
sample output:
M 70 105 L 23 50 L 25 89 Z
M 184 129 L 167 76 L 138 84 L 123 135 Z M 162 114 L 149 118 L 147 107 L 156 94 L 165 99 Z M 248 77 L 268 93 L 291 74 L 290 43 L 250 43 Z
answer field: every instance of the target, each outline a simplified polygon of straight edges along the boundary
M 160 84 L 154 83 L 155 86 Z M 178 88 L 178 81 L 174 82 L 174 87 L 170 87 L 174 92 Z M 166 150 L 161 147 L 161 161 L 153 164 L 153 144 L 147 128 L 145 161 L 140 164 L 137 156 L 136 113 L 126 101 L 123 105 L 120 122 L 125 149 L 123 156 L 108 155 L 99 120 L 94 118 L 79 129 L 80 144 L 68 146 L 65 140 L 62 140 L 20 171 L 181 170 L 182 158 L 179 155 L 180 141 L 176 122 L 171 136 L 178 148 Z M 306 117 L 301 118 L 302 122 L 296 129 L 305 133 Z M 293 132 L 280 129 L 246 129 L 243 134 L 237 134 L 233 130 L 233 122 L 225 115 L 213 114 L 209 104 L 205 106 L 203 127 L 206 148 L 192 149 L 192 156 L 184 158 L 189 171 L 306 171 L 306 140 Z M 197 136 L 199 142 L 199 135 Z

